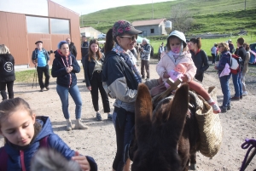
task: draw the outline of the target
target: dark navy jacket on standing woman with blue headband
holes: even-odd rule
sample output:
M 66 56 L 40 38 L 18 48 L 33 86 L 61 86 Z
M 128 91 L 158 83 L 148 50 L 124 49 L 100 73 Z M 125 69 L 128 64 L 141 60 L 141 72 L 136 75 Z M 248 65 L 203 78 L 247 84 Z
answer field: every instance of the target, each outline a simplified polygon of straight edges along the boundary
M 52 64 L 51 75 L 52 77 L 57 77 L 58 85 L 66 88 L 72 88 L 77 84 L 77 76 L 75 73 L 79 73 L 80 66 L 73 54 L 69 54 L 67 58 L 68 62 L 65 56 L 59 54 L 58 51 L 55 51 L 55 60 Z M 73 66 L 73 71 L 67 73 L 67 66 Z

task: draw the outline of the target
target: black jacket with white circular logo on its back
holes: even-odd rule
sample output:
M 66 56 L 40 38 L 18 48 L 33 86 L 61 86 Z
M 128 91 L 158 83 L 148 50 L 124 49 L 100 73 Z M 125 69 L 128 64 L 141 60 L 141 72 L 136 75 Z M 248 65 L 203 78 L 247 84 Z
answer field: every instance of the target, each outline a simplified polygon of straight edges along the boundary
M 12 54 L 0 54 L 0 82 L 15 81 L 15 59 Z

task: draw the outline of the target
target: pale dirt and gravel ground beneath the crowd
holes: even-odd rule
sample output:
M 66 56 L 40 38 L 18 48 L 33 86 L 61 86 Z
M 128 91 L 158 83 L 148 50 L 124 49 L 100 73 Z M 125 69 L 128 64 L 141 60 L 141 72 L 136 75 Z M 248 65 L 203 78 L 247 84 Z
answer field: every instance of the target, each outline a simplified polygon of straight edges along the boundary
M 255 71 L 254 71 L 255 73 Z M 150 65 L 151 78 L 157 78 L 155 72 L 155 64 Z M 93 110 L 90 92 L 82 83 L 83 72 L 78 75 L 79 89 L 83 100 L 82 120 L 90 128 L 88 130 L 65 130 L 65 119 L 61 111 L 61 101 L 55 91 L 55 78 L 50 78 L 49 91 L 39 92 L 38 88 L 32 88 L 32 84 L 15 83 L 15 97 L 21 97 L 29 102 L 32 109 L 37 115 L 49 116 L 53 125 L 55 134 L 58 134 L 67 145 L 73 150 L 79 151 L 81 154 L 89 155 L 96 159 L 100 171 L 112 170 L 113 157 L 116 151 L 115 132 L 113 123 L 107 120 L 107 114 L 103 114 L 102 100 L 100 100 L 100 109 L 103 117 L 102 122 L 96 122 L 96 112 Z M 248 96 L 240 101 L 232 102 L 231 110 L 224 114 L 219 114 L 224 129 L 224 138 L 218 154 L 212 159 L 204 157 L 200 152 L 197 153 L 197 167 L 202 171 L 235 171 L 241 167 L 241 162 L 246 154 L 245 150 L 241 149 L 241 144 L 245 138 L 256 139 L 256 114 L 255 101 L 256 77 L 248 77 L 247 91 Z M 218 104 L 222 104 L 223 95 L 216 71 L 213 66 L 207 71 L 204 78 L 204 86 L 215 85 L 218 87 Z M 230 80 L 231 94 L 234 94 L 232 81 Z M 69 110 L 71 118 L 74 116 L 74 103 L 70 99 Z M 111 110 L 113 111 L 113 100 L 110 100 Z M 74 123 L 74 122 L 73 122 Z M 3 138 L 0 137 L 0 146 L 3 145 Z M 247 170 L 256 168 L 256 157 L 248 166 Z

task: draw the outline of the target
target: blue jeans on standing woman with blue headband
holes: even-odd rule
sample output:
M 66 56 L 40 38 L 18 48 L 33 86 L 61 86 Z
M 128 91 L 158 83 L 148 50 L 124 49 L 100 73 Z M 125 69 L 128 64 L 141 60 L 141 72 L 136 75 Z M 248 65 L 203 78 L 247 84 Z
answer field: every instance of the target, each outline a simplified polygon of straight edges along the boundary
M 68 111 L 68 93 L 69 93 L 76 104 L 76 109 L 75 109 L 76 119 L 81 118 L 82 99 L 81 99 L 78 85 L 75 85 L 72 88 L 66 88 L 57 84 L 56 90 L 61 99 L 62 111 L 63 111 L 64 117 L 66 119 L 69 119 L 69 111 Z

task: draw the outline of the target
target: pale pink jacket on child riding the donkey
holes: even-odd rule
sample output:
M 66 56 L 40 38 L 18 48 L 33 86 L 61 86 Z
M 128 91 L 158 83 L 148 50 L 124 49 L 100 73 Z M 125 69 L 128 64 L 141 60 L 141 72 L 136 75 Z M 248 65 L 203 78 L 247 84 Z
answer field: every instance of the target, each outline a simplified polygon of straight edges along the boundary
M 162 77 L 163 82 L 166 82 L 166 78 L 163 77 L 164 72 L 168 73 L 169 71 L 174 70 L 178 63 L 182 63 L 187 67 L 187 72 L 184 75 L 188 77 L 188 82 L 192 81 L 195 77 L 196 67 L 191 58 L 191 54 L 184 53 L 184 55 L 179 56 L 177 60 L 175 60 L 173 56 L 168 56 L 166 52 L 163 52 L 162 54 L 162 58 L 156 66 L 156 71 L 158 75 Z

